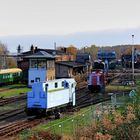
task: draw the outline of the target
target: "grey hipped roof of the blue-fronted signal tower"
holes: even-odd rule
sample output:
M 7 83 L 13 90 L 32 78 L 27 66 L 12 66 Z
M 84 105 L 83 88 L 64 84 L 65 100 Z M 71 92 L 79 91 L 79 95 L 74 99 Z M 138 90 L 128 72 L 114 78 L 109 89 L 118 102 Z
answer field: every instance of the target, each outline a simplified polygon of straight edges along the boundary
M 55 59 L 54 56 L 50 55 L 49 53 L 45 51 L 39 51 L 37 53 L 34 53 L 30 56 L 26 56 L 26 58 L 49 58 L 49 59 Z

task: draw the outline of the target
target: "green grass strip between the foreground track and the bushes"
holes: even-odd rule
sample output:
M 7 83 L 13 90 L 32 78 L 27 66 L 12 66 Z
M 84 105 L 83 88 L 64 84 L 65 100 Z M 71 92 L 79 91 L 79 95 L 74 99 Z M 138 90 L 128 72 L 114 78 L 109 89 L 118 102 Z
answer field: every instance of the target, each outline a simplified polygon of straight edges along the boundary
M 73 135 L 76 129 L 88 125 L 92 121 L 92 111 L 95 106 L 90 106 L 75 112 L 73 115 L 65 115 L 58 120 L 43 123 L 33 128 L 32 130 L 25 130 L 20 134 L 20 139 L 26 140 L 27 137 L 39 132 L 48 131 L 60 135 Z

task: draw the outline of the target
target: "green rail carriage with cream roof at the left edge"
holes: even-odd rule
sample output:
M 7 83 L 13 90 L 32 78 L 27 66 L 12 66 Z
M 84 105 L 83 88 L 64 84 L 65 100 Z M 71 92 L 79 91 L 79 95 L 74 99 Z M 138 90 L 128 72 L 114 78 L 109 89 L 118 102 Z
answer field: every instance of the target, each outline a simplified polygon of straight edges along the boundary
M 17 83 L 22 78 L 22 70 L 19 68 L 0 70 L 0 85 L 8 83 Z

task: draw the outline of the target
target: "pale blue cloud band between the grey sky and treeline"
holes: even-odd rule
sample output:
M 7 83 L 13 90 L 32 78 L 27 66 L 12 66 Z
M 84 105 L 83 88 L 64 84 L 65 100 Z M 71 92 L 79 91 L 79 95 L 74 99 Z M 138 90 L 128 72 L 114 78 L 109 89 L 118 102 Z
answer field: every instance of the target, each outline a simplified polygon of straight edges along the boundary
M 95 44 L 96 46 L 114 46 L 132 44 L 132 34 L 135 35 L 134 43 L 140 44 L 140 28 L 128 30 L 105 30 L 99 32 L 78 32 L 68 35 L 22 35 L 0 37 L 0 41 L 7 44 L 10 52 L 16 52 L 20 44 L 23 50 L 29 50 L 31 44 L 39 48 L 54 48 L 57 46 L 74 46 L 81 48 Z

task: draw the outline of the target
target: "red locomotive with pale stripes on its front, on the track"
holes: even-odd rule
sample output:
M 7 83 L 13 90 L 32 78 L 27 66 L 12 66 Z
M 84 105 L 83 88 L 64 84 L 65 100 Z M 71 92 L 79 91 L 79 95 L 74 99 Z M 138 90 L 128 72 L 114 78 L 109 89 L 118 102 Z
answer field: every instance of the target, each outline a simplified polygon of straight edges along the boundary
M 100 91 L 103 86 L 106 84 L 106 76 L 105 74 L 100 71 L 96 70 L 89 74 L 88 79 L 88 89 L 92 92 Z

